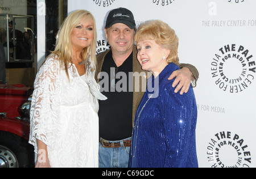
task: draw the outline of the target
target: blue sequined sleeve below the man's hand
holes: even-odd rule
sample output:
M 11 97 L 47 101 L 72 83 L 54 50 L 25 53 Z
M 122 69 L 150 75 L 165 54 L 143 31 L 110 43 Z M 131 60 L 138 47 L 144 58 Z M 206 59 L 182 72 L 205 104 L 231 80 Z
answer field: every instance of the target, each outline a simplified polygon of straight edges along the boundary
M 188 167 L 187 161 L 194 157 L 189 155 L 195 148 L 193 146 L 197 118 L 195 95 L 192 89 L 184 95 L 179 95 L 174 93 L 171 85 L 167 85 L 160 92 L 160 100 L 160 113 L 164 120 L 164 138 L 167 147 L 164 167 Z

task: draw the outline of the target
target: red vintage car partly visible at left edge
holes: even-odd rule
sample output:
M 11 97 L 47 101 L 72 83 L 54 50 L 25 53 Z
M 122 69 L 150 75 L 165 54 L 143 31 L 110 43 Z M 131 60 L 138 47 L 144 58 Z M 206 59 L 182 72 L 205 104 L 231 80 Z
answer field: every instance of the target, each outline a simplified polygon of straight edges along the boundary
M 34 147 L 28 143 L 31 93 L 22 84 L 0 84 L 0 168 L 35 166 Z

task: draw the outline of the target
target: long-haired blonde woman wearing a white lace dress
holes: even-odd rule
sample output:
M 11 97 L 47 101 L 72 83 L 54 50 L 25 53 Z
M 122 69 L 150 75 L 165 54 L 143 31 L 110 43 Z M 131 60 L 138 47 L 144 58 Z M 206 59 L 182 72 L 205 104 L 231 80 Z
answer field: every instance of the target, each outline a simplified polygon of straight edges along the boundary
M 30 143 L 36 167 L 98 167 L 98 100 L 106 97 L 94 80 L 95 52 L 93 15 L 73 12 L 35 79 Z

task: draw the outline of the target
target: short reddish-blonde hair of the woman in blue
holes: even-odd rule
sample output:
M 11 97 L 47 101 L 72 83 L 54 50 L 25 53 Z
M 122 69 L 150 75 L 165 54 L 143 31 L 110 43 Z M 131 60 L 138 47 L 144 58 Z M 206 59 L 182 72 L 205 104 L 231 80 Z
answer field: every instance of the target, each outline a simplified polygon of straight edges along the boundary
M 179 47 L 179 38 L 176 36 L 174 29 L 161 20 L 148 20 L 141 24 L 135 34 L 135 42 L 143 40 L 154 40 L 156 44 L 164 49 L 169 49 L 170 54 L 166 58 L 167 63 L 179 65 L 177 50 Z

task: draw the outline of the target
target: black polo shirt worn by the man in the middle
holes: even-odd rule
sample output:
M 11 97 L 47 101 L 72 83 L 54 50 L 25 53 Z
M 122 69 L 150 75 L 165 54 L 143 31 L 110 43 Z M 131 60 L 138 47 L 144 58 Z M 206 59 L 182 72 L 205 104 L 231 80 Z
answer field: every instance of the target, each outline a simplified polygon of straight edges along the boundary
M 133 92 L 129 92 L 129 84 L 133 86 L 132 81 L 129 83 L 129 73 L 133 73 L 133 53 L 117 67 L 110 50 L 105 56 L 101 72 L 108 74 L 107 77 L 101 77 L 99 82 L 104 90 L 102 94 L 108 100 L 99 101 L 100 137 L 110 141 L 129 138 L 133 130 Z

